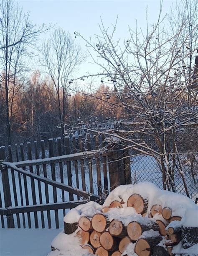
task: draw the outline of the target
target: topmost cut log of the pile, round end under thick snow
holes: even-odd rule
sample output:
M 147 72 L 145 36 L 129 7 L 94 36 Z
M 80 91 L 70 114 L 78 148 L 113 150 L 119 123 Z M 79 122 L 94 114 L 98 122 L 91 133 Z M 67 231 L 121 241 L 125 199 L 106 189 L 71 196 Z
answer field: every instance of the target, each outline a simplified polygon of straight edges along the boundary
M 134 207 L 137 213 L 145 213 L 148 207 L 148 199 L 143 199 L 139 194 L 132 194 L 128 201 L 128 207 Z

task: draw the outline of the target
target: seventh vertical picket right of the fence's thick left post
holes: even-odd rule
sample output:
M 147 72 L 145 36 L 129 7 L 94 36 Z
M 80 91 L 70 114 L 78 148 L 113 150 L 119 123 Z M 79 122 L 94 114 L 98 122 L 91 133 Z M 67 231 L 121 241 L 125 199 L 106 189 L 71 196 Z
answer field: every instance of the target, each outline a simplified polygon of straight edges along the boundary
M 53 139 L 49 139 L 49 156 L 53 157 L 54 156 L 54 149 L 53 149 Z M 51 176 L 52 180 L 56 181 L 56 173 L 55 173 L 55 164 L 51 163 Z M 56 187 L 53 186 L 53 202 L 57 202 L 57 191 Z M 58 210 L 54 210 L 55 213 L 55 222 L 56 222 L 56 228 L 59 228 L 59 221 L 58 221 Z

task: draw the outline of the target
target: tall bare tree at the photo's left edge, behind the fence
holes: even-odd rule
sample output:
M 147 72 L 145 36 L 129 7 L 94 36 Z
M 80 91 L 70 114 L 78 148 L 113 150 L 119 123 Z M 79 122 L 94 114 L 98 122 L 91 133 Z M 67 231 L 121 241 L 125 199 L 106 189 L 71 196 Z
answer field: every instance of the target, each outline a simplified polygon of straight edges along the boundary
M 33 25 L 29 14 L 24 14 L 13 0 L 1 0 L 0 13 L 0 90 L 6 105 L 7 140 L 11 144 L 13 102 L 28 71 L 28 47 L 33 47 L 48 28 Z

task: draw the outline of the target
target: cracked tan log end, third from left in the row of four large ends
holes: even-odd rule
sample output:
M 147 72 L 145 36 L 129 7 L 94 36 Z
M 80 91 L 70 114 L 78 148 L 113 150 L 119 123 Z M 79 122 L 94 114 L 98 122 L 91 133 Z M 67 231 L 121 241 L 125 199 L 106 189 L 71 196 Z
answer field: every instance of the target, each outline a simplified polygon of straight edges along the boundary
M 109 224 L 109 233 L 113 236 L 123 238 L 127 235 L 127 228 L 119 220 L 112 220 Z

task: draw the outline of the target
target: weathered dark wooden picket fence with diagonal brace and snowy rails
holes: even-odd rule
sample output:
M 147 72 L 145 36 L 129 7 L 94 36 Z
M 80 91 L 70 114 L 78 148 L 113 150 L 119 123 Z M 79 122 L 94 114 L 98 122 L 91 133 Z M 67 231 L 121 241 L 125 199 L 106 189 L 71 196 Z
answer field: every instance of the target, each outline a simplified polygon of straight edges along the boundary
M 104 137 L 88 134 L 84 141 L 79 135 L 28 142 L 25 149 L 23 144 L 0 147 L 2 228 L 51 228 L 53 220 L 59 228 L 66 209 L 99 202 L 115 186 L 130 184 L 127 150 L 106 146 Z

